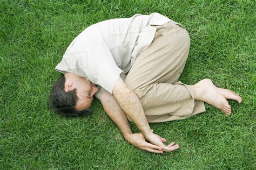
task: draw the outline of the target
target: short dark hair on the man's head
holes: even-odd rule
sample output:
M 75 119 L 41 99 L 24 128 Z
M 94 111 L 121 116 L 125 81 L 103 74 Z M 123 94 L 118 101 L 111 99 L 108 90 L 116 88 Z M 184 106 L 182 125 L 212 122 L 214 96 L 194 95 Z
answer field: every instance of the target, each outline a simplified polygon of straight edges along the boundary
M 76 111 L 78 97 L 76 89 L 65 91 L 65 76 L 60 77 L 50 93 L 50 108 L 64 117 L 86 117 L 91 115 L 90 108 Z

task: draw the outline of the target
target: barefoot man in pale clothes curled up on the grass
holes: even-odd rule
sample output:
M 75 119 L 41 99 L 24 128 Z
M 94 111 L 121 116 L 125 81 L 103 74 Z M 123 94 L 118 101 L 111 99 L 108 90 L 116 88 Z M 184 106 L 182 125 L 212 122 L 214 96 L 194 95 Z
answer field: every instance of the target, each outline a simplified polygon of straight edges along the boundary
M 156 153 L 177 150 L 179 145 L 165 145 L 149 122 L 196 115 L 205 111 L 204 102 L 230 115 L 227 100 L 242 100 L 209 79 L 193 85 L 178 81 L 189 49 L 185 27 L 159 13 L 91 25 L 56 67 L 65 76 L 52 88 L 51 107 L 66 117 L 85 116 L 95 95 L 130 144 Z M 141 133 L 132 133 L 127 119 Z

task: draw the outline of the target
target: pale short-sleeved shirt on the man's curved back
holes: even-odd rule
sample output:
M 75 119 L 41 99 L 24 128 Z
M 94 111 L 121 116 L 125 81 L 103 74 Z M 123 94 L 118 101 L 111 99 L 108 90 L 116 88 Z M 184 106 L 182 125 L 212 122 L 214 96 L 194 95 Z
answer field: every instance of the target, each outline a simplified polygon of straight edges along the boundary
M 152 13 L 93 24 L 71 42 L 55 69 L 98 84 L 97 98 L 104 90 L 112 94 L 119 76 L 124 80 L 137 56 L 151 44 L 156 33 L 151 25 L 170 21 L 159 13 Z

